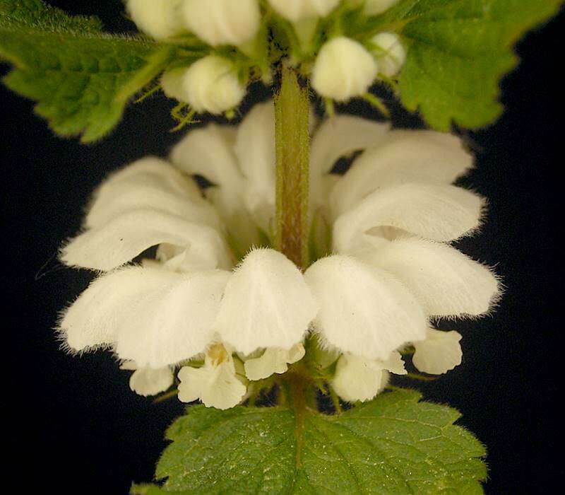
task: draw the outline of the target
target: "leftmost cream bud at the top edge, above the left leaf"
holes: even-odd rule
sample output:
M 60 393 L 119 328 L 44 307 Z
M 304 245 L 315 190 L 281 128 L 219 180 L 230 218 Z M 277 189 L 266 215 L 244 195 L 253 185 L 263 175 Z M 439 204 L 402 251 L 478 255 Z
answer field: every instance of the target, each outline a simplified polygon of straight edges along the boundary
M 186 31 L 179 8 L 182 0 L 128 0 L 126 7 L 137 27 L 156 40 Z

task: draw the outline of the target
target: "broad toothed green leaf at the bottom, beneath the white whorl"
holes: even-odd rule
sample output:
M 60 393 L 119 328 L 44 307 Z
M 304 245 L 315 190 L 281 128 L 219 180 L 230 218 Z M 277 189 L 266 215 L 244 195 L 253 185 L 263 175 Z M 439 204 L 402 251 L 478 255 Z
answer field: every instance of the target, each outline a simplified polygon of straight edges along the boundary
M 167 431 L 165 484 L 148 493 L 482 493 L 484 447 L 453 425 L 458 412 L 420 398 L 386 392 L 336 416 L 191 407 Z

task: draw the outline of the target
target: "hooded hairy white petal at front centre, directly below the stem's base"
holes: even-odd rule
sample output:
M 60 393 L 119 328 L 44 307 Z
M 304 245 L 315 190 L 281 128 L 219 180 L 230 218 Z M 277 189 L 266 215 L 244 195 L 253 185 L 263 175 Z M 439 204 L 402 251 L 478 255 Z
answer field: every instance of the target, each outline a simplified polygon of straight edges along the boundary
M 254 250 L 227 284 L 217 330 L 222 341 L 244 354 L 258 347 L 290 349 L 315 315 L 299 269 L 280 252 Z

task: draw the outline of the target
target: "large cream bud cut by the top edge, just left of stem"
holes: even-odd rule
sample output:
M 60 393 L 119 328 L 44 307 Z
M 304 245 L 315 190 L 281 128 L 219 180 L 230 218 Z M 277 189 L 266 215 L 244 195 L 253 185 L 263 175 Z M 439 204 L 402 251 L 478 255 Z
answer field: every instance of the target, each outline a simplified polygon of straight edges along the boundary
M 184 0 L 184 24 L 208 45 L 242 45 L 257 33 L 257 0 Z

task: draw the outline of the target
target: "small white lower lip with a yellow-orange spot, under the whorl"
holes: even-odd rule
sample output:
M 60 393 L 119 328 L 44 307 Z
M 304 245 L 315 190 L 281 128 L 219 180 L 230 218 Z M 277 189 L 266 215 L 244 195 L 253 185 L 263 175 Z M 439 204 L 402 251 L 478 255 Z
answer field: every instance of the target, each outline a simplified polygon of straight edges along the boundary
M 246 386 L 237 378 L 234 360 L 221 344 L 206 352 L 204 366 L 184 366 L 178 373 L 179 400 L 193 402 L 200 399 L 206 407 L 230 409 L 242 402 Z

